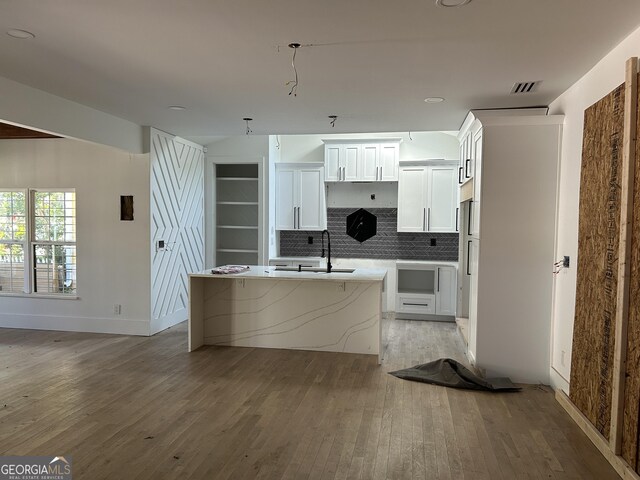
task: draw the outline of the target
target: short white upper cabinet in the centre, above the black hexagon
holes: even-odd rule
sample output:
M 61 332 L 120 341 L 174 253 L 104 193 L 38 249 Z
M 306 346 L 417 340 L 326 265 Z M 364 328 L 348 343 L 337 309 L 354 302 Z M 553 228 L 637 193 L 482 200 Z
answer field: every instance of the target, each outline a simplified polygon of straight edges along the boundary
M 400 139 L 357 142 L 324 140 L 324 142 L 325 181 L 398 181 Z

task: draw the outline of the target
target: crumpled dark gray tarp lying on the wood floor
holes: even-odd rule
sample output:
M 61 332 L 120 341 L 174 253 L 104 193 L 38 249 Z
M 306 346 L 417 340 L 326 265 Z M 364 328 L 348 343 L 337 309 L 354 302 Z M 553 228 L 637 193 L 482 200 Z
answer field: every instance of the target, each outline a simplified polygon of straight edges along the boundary
M 432 383 L 443 387 L 484 390 L 488 392 L 518 392 L 522 390 L 508 378 L 480 378 L 468 368 L 451 358 L 441 358 L 433 362 L 389 372 L 404 380 Z

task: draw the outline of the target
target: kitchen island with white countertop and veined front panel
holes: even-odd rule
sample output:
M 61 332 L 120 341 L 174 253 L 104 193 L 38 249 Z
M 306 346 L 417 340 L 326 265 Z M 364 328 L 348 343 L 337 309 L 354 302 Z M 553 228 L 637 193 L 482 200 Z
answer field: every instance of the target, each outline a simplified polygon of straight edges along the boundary
M 189 275 L 189 351 L 202 345 L 380 354 L 386 270 L 251 266 Z

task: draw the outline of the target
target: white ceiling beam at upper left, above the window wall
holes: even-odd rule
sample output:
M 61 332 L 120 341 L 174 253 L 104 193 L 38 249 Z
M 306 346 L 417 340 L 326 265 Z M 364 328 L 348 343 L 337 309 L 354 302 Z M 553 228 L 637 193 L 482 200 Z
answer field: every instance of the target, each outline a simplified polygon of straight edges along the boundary
M 0 119 L 126 152 L 143 152 L 143 130 L 139 125 L 3 77 Z

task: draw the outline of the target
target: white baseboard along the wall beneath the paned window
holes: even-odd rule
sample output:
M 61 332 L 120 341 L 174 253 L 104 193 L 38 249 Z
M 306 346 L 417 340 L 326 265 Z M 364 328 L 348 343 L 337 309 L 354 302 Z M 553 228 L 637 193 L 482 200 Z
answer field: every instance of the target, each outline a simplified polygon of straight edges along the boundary
M 149 335 L 148 320 L 0 313 L 0 327 L 63 332 Z

